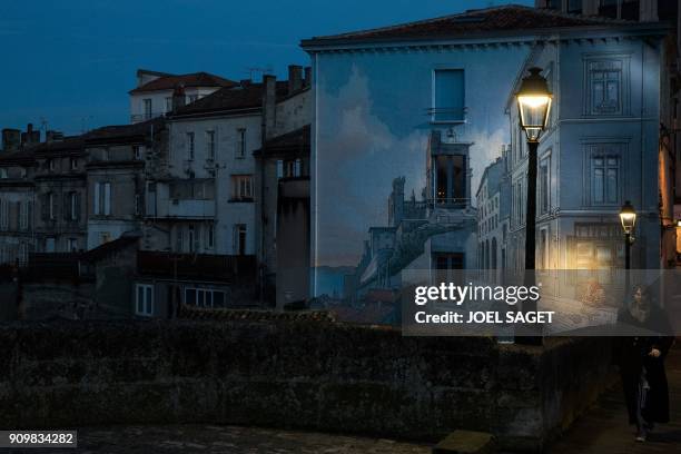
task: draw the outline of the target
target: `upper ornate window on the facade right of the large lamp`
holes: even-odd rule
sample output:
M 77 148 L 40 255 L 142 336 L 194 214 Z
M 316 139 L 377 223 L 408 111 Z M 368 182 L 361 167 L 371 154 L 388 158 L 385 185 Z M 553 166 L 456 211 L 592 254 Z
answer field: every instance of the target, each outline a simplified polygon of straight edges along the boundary
M 622 115 L 623 114 L 623 62 L 622 60 L 588 61 L 588 114 L 589 115 Z

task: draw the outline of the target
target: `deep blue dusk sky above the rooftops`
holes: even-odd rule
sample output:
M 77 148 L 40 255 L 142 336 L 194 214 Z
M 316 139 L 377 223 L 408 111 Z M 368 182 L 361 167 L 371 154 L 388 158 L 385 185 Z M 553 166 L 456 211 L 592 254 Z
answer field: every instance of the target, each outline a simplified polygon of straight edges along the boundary
M 298 42 L 313 36 L 451 14 L 503 0 L 116 2 L 69 0 L 0 4 L 0 128 L 79 134 L 129 119 L 138 68 L 247 78 L 248 68 L 285 76 L 307 65 Z M 513 3 L 533 4 L 531 0 Z

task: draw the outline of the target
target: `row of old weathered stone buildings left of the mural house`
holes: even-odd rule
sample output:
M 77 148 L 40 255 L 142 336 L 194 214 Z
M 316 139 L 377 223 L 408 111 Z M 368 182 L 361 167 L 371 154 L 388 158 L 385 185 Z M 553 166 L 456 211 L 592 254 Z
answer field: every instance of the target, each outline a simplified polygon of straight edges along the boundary
M 305 299 L 310 71 L 137 80 L 129 125 L 45 140 L 30 125 L 2 131 L 0 264 L 40 282 L 72 269 L 103 316 Z M 278 236 L 292 245 L 280 257 Z M 18 298 L 62 296 L 38 293 Z

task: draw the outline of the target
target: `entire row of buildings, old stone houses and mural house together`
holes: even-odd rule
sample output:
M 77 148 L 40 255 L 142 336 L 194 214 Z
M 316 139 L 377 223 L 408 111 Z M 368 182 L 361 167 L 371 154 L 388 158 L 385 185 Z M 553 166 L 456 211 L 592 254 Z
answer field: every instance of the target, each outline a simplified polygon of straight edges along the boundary
M 76 254 L 138 315 L 383 305 L 423 272 L 522 270 L 514 92 L 539 67 L 537 267 L 621 268 L 625 200 L 633 266 L 675 266 L 679 23 L 673 1 L 542 0 L 306 39 L 286 81 L 140 70 L 130 125 L 4 131 L 2 261 Z

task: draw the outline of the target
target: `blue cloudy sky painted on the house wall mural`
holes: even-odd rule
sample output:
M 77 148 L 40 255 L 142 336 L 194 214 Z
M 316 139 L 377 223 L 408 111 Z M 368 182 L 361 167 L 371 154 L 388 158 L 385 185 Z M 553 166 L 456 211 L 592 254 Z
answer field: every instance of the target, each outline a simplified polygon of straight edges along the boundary
M 510 142 L 506 102 L 530 48 L 324 53 L 317 68 L 316 266 L 356 265 L 372 226 L 387 225 L 392 180 L 421 199 L 435 68 L 464 70 L 472 189 Z M 444 132 L 443 132 L 444 135 Z

